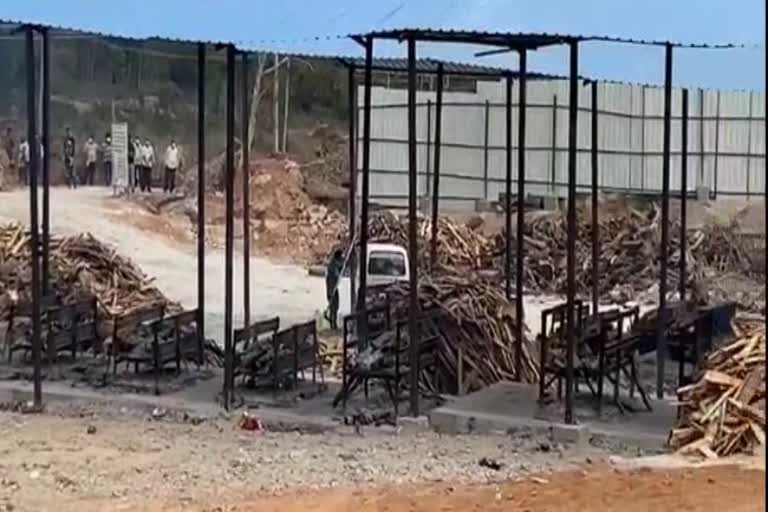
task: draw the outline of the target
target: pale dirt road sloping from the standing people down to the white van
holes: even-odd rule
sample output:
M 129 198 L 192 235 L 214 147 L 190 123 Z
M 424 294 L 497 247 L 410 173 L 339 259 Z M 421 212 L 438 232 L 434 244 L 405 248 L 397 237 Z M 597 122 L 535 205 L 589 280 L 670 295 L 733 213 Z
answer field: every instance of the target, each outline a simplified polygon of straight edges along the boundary
M 122 217 L 122 219 L 121 219 Z M 197 259 L 191 241 L 183 236 L 153 233 L 137 226 L 161 223 L 162 217 L 149 218 L 135 205 L 111 198 L 104 187 L 77 190 L 54 188 L 51 193 L 51 229 L 54 234 L 90 232 L 136 261 L 156 278 L 160 289 L 185 307 L 197 304 Z M 122 221 L 121 221 L 122 220 Z M 134 220 L 140 222 L 132 222 Z M 29 222 L 27 190 L 0 193 L 0 222 Z M 206 334 L 221 339 L 224 332 L 224 252 L 206 254 Z M 235 254 L 235 325 L 242 323 L 243 259 Z M 313 318 L 325 307 L 325 285 L 320 278 L 308 277 L 293 265 L 276 265 L 263 258 L 251 258 L 251 316 L 279 314 L 284 325 Z

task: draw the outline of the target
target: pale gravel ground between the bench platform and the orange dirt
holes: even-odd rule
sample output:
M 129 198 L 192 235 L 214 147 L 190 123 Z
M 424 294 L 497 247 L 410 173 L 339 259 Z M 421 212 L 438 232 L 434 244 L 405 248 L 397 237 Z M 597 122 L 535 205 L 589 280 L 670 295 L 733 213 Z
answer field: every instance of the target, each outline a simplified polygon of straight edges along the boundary
M 344 427 L 256 433 L 224 416 L 153 419 L 138 411 L 51 405 L 0 413 L 0 510 L 69 510 L 85 498 L 200 499 L 413 482 L 488 483 L 604 461 L 616 447 L 576 450 L 519 431 L 440 436 Z M 639 452 L 627 448 L 628 455 Z M 487 459 L 485 466 L 481 459 Z M 487 466 L 498 463 L 499 469 Z M 3 508 L 5 507 L 5 509 Z M 80 510 L 73 508 L 73 510 Z

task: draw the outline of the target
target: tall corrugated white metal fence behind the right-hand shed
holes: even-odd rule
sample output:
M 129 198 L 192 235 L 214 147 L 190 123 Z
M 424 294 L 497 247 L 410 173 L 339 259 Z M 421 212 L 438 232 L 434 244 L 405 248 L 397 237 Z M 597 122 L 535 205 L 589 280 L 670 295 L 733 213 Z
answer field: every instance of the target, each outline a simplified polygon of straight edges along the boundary
M 512 111 L 513 179 L 517 179 L 518 90 Z M 578 186 L 591 186 L 591 92 L 579 92 Z M 362 88 L 358 119 L 362 120 Z M 374 88 L 371 119 L 371 200 L 402 206 L 408 197 L 407 92 Z M 417 110 L 419 195 L 430 194 L 434 164 L 435 93 L 419 91 Z M 661 191 L 664 91 L 600 84 L 599 176 L 603 190 Z M 671 190 L 680 190 L 682 92 L 672 96 Z M 765 94 L 691 90 L 688 124 L 688 190 L 707 186 L 720 196 L 762 195 L 765 187 Z M 568 82 L 529 81 L 526 191 L 566 195 Z M 441 152 L 441 204 L 473 208 L 498 200 L 504 189 L 505 84 L 479 82 L 476 93 L 445 93 Z M 362 168 L 358 123 L 358 169 Z M 358 179 L 358 184 L 360 180 Z

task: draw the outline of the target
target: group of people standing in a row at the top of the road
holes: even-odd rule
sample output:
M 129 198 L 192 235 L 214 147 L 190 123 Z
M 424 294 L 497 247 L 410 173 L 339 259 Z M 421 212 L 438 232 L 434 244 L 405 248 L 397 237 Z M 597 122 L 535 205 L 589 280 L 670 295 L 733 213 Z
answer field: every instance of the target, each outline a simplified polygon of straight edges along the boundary
M 40 137 L 36 137 L 38 154 L 42 159 L 43 146 Z M 7 128 L 3 140 L 3 149 L 8 155 L 11 167 L 18 169 L 20 184 L 29 184 L 30 169 L 30 145 L 26 138 L 22 137 L 17 145 L 12 128 Z M 79 172 L 77 160 L 78 150 L 72 130 L 67 127 L 62 142 L 62 158 L 67 186 L 77 188 L 79 185 L 95 185 L 96 171 L 101 169 L 103 184 L 112 186 L 113 148 L 110 133 L 104 135 L 104 140 L 99 143 L 93 135 L 88 137 L 82 148 L 84 163 L 83 175 Z M 131 189 L 138 188 L 142 192 L 152 192 L 152 172 L 156 166 L 155 148 L 149 138 L 144 142 L 139 137 L 130 137 L 128 144 L 128 169 Z M 171 140 L 165 150 L 163 159 L 163 191 L 173 193 L 176 190 L 176 175 L 182 167 L 181 148 L 175 140 Z

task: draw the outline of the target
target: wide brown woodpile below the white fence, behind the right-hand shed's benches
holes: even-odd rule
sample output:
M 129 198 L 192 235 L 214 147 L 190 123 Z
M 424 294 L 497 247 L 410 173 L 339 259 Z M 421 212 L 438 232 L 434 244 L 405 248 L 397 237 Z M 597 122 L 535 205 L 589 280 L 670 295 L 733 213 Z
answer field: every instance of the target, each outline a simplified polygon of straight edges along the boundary
M 623 208 L 611 215 L 601 215 L 599 219 L 601 296 L 615 302 L 636 300 L 639 293 L 658 281 L 661 211 L 654 204 L 646 211 Z M 588 293 L 592 283 L 592 223 L 587 210 L 578 212 L 577 229 L 576 287 L 580 293 Z M 679 222 L 670 223 L 667 252 L 670 290 L 676 289 L 679 280 L 679 232 Z M 503 247 L 503 236 L 497 238 L 497 245 Z M 545 293 L 565 292 L 566 243 L 566 218 L 562 213 L 526 219 L 525 284 L 529 289 Z M 708 225 L 689 231 L 687 243 L 687 281 L 694 293 L 706 295 L 700 284 L 712 274 L 748 273 L 751 270 L 743 241 L 733 226 Z M 708 297 L 697 298 L 707 302 Z

